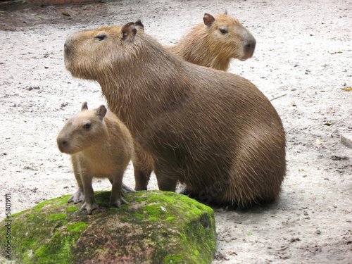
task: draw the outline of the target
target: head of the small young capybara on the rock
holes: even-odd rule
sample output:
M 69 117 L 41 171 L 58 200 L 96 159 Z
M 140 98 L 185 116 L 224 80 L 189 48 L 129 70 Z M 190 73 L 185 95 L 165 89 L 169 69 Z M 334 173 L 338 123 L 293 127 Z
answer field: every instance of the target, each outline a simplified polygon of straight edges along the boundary
M 102 142 L 106 135 L 103 122 L 106 111 L 105 106 L 88 110 L 87 102 L 83 103 L 80 113 L 70 118 L 58 134 L 58 149 L 63 153 L 74 154 Z

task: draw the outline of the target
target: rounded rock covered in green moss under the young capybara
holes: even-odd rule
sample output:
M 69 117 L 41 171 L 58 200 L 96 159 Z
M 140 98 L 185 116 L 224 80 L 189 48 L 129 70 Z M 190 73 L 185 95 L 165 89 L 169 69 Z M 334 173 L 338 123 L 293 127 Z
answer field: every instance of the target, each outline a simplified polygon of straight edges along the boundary
M 70 195 L 11 215 L 15 263 L 211 263 L 213 210 L 166 191 L 125 194 L 127 205 L 108 207 L 110 191 L 96 191 L 99 209 L 80 211 Z M 4 220 L 5 221 L 5 220 Z M 4 227 L 7 222 L 1 222 Z M 0 244 L 6 244 L 0 229 Z M 6 254 L 1 251 L 2 254 Z

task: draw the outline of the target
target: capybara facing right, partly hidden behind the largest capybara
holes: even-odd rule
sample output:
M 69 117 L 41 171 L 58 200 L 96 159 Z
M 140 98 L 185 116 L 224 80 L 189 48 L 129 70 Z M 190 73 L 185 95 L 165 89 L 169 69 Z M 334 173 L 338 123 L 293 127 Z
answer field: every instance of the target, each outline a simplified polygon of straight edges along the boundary
M 203 22 L 193 27 L 175 46 L 166 47 L 172 53 L 201 66 L 227 70 L 231 58 L 245 61 L 256 49 L 256 39 L 249 30 L 230 15 L 204 14 Z

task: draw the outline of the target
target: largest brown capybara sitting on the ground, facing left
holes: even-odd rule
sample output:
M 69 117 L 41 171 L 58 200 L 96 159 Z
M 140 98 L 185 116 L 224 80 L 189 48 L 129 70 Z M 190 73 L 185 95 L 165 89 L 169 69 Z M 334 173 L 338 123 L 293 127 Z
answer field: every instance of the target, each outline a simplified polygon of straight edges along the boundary
M 279 195 L 284 129 L 249 80 L 182 61 L 134 23 L 71 35 L 64 59 L 74 77 L 99 82 L 153 158 L 159 189 L 179 182 L 197 199 L 239 207 Z

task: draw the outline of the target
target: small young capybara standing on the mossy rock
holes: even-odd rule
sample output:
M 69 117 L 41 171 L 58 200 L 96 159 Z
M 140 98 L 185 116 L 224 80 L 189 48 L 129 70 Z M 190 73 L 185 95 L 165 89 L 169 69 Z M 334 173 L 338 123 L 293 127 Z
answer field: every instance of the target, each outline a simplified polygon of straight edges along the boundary
M 120 208 L 122 177 L 134 155 L 132 136 L 125 125 L 105 106 L 81 112 L 70 118 L 57 137 L 58 149 L 70 154 L 78 190 L 68 199 L 84 201 L 81 210 L 88 214 L 99 208 L 94 199 L 93 177 L 107 177 L 113 185 L 110 205 Z

